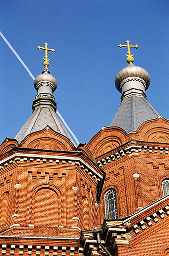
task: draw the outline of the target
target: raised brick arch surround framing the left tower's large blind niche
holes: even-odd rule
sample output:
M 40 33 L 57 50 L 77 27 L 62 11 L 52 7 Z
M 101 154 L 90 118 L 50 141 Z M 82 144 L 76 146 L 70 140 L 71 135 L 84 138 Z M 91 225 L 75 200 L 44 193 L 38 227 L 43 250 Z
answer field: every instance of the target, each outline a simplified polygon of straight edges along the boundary
M 58 198 L 58 224 L 63 225 L 63 192 L 59 186 L 52 183 L 36 184 L 30 192 L 29 223 L 33 222 L 33 206 L 35 194 L 41 189 L 50 189 L 55 192 Z

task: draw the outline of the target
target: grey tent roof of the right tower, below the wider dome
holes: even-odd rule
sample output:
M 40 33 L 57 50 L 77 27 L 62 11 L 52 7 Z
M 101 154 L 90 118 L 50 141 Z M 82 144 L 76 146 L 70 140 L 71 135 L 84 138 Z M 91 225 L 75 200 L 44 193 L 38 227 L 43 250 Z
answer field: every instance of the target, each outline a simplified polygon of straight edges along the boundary
M 109 126 L 118 126 L 126 133 L 135 132 L 137 127 L 159 116 L 145 97 L 130 96 L 123 98 Z

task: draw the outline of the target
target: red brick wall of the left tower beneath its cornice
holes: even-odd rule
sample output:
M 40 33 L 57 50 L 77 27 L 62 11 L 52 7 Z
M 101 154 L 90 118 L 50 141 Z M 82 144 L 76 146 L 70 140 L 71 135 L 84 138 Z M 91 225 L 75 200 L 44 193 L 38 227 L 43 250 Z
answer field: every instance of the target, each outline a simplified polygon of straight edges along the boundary
M 47 154 L 51 153 L 45 152 Z M 68 160 L 43 161 L 43 158 L 37 155 L 33 160 L 25 158 L 3 166 L 0 172 L 0 181 L 3 181 L 0 188 L 1 234 L 79 236 L 80 229 L 92 229 L 97 225 L 97 181 L 78 164 Z M 89 161 L 87 159 L 87 163 Z M 15 189 L 15 184 L 20 184 L 20 188 Z M 73 191 L 72 187 L 77 187 L 78 191 Z M 3 199 L 2 196 L 6 191 L 9 191 L 9 204 L 7 197 Z M 12 218 L 13 214 L 19 216 Z M 20 226 L 9 228 L 13 224 Z

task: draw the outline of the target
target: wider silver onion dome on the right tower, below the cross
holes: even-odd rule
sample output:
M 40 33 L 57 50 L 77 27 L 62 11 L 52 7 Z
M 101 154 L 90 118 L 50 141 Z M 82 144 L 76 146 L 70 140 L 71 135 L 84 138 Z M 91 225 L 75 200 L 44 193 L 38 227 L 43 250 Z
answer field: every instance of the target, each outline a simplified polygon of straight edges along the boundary
M 144 69 L 141 68 L 139 66 L 135 66 L 132 62 L 130 62 L 128 64 L 127 67 L 121 69 L 115 77 L 115 87 L 116 89 L 121 92 L 121 83 L 124 79 L 126 78 L 130 78 L 132 79 L 132 77 L 134 77 L 134 79 L 142 79 L 145 82 L 145 90 L 148 88 L 149 84 L 150 84 L 150 76 L 148 74 L 148 72 Z

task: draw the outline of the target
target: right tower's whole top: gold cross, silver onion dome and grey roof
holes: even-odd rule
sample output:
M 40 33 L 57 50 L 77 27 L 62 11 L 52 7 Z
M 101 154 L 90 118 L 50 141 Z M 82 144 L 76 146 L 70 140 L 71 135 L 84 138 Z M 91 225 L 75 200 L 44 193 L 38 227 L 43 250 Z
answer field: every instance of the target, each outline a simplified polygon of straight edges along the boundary
M 118 47 L 127 47 L 126 61 L 127 67 L 121 69 L 115 77 L 115 87 L 121 92 L 121 103 L 109 126 L 122 128 L 126 133 L 136 132 L 138 126 L 150 119 L 159 116 L 158 112 L 150 105 L 146 99 L 145 90 L 150 84 L 148 72 L 132 62 L 134 58 L 130 52 L 130 47 L 138 48 L 138 45 L 119 44 Z

